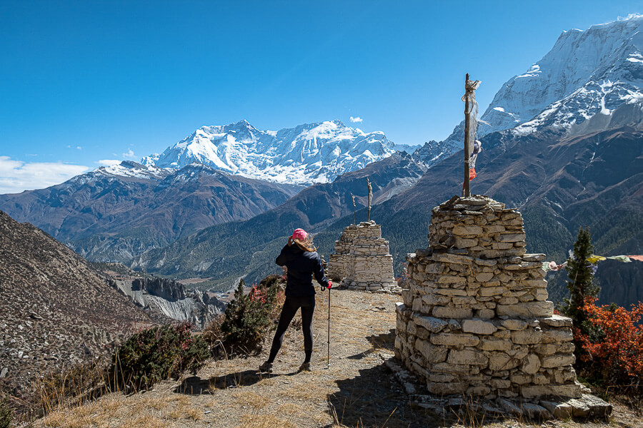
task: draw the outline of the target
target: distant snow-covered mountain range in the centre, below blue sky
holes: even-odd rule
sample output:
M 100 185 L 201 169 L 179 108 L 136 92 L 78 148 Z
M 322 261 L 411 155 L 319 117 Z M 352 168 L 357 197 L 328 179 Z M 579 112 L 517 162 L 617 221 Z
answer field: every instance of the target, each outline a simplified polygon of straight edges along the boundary
M 261 131 L 248 121 L 240 121 L 201 126 L 163 153 L 146 156 L 141 163 L 182 168 L 197 162 L 248 178 L 308 185 L 328 183 L 396 150 L 384 133 L 364 133 L 341 121 L 306 123 L 280 131 Z

